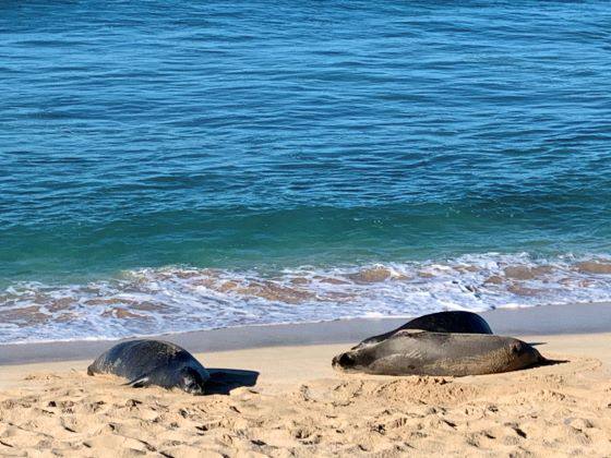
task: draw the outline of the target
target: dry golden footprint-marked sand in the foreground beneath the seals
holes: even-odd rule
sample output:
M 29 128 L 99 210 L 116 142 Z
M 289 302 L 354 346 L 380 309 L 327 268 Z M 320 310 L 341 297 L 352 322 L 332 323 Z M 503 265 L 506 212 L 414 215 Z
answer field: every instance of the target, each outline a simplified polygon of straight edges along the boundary
M 346 345 L 197 358 L 260 373 L 193 397 L 85 375 L 89 361 L 0 366 L 5 456 L 611 456 L 611 334 L 527 336 L 568 362 L 477 377 L 344 375 Z

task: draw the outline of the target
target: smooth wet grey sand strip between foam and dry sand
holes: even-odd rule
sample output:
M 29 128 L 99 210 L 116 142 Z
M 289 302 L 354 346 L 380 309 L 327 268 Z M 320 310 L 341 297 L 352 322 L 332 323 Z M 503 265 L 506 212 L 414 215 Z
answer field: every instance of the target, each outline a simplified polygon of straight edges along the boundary
M 611 332 L 611 303 L 496 309 L 480 313 L 494 334 L 520 336 L 579 335 Z M 271 347 L 357 343 L 394 329 L 409 318 L 351 318 L 320 323 L 254 325 L 151 336 L 178 343 L 193 353 Z M 117 341 L 73 340 L 0 346 L 0 366 L 93 359 Z

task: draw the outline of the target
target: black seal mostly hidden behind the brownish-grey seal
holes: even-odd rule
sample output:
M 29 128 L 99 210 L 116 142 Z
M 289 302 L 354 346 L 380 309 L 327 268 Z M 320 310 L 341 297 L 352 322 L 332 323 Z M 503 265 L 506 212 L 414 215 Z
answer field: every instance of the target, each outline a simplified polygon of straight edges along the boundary
M 431 333 L 492 334 L 492 329 L 486 323 L 486 320 L 476 313 L 462 311 L 438 312 L 414 318 L 390 333 L 369 337 L 354 347 L 352 350 L 366 345 L 381 342 L 404 329 L 421 329 Z

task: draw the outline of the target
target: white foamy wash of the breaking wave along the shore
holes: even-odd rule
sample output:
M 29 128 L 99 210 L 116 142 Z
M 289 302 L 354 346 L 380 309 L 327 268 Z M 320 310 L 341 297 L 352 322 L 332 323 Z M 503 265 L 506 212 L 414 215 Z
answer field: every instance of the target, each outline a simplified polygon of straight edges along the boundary
M 276 273 L 172 266 L 86 285 L 14 284 L 0 293 L 0 342 L 599 301 L 611 301 L 608 256 L 488 253 Z

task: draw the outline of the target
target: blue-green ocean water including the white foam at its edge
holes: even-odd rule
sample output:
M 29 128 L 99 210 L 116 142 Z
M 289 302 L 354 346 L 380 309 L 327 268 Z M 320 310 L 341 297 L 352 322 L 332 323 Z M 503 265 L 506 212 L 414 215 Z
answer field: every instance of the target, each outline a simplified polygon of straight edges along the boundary
M 607 1 L 0 3 L 0 342 L 611 299 Z

